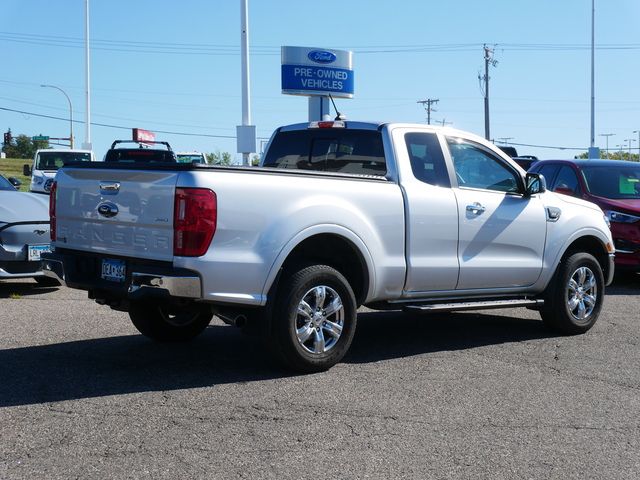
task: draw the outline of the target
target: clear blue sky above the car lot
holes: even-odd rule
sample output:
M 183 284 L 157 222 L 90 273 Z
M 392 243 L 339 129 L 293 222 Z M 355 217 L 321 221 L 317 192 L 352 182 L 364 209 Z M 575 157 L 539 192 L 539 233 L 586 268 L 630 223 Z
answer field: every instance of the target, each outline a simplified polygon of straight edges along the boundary
M 240 0 L 91 0 L 91 120 L 157 133 L 175 150 L 236 150 L 241 123 Z M 352 120 L 435 120 L 484 135 L 478 73 L 495 45 L 491 136 L 586 149 L 590 140 L 591 0 L 250 0 L 252 119 L 258 136 L 307 120 L 307 100 L 280 93 L 280 46 L 354 51 Z M 596 144 L 640 130 L 640 1 L 596 0 Z M 84 0 L 0 0 L 0 129 L 67 136 L 63 88 L 85 121 Z M 78 145 L 84 123 L 75 124 Z M 102 156 L 130 130 L 92 127 Z M 196 136 L 197 135 L 197 136 Z M 208 136 L 207 136 L 208 135 Z M 541 158 L 583 150 L 518 147 Z

